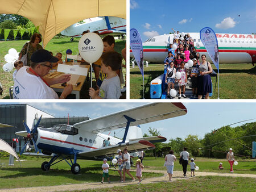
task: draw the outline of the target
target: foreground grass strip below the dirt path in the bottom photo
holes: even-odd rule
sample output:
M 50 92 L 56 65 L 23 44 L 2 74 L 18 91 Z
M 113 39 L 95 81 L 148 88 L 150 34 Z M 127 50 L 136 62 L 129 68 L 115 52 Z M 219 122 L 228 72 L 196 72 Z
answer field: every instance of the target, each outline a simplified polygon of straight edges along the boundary
M 175 182 L 87 189 L 86 191 L 255 191 L 255 181 L 255 178 L 200 176 Z

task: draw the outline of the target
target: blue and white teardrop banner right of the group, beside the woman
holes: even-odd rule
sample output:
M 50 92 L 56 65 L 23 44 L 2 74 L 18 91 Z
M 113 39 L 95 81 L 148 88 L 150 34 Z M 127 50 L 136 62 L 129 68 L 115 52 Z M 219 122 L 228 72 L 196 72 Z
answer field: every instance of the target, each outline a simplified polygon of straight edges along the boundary
M 200 31 L 200 39 L 207 49 L 210 59 L 218 69 L 218 40 L 215 32 L 210 27 L 205 27 Z

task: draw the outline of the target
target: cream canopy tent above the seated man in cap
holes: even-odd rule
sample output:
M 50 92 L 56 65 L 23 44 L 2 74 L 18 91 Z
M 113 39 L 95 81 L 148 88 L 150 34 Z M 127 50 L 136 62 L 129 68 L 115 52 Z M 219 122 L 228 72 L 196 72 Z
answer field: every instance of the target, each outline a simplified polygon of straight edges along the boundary
M 0 0 L 0 14 L 18 14 L 39 26 L 46 47 L 53 36 L 82 19 L 126 19 L 126 0 Z

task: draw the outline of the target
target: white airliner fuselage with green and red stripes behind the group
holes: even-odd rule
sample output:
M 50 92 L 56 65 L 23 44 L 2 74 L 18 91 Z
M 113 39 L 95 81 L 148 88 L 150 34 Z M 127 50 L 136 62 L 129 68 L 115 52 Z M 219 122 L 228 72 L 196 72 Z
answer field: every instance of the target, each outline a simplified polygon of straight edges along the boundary
M 203 43 L 200 34 L 189 34 L 194 41 L 196 51 L 200 55 L 206 55 L 207 61 L 212 62 Z M 218 40 L 218 52 L 220 64 L 241 64 L 256 62 L 256 35 L 251 34 L 216 34 Z M 163 63 L 168 55 L 169 44 L 173 43 L 174 34 L 164 34 L 151 37 L 143 43 L 144 61 Z M 133 53 L 130 51 L 130 56 Z M 201 60 L 200 60 L 201 61 Z

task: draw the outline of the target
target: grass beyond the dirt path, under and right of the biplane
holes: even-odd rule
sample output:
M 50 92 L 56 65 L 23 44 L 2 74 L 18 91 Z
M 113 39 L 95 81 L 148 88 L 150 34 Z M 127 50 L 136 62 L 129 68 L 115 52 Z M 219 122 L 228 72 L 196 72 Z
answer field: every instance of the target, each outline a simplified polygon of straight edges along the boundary
M 89 161 L 78 160 L 77 163 L 81 166 L 81 174 L 74 175 L 71 173 L 70 167 L 66 162 L 59 162 L 53 165 L 48 172 L 43 172 L 41 164 L 44 161 L 49 161 L 48 158 L 36 158 L 28 157 L 26 161 L 21 162 L 21 166 L 15 161 L 14 166 L 8 166 L 9 159 L 0 159 L 0 165 L 5 163 L 6 166 L 0 168 L 0 189 L 3 188 L 15 188 L 15 187 L 32 187 L 32 186 L 53 186 L 53 185 L 65 185 L 69 183 L 85 183 L 85 182 L 100 182 L 102 177 L 101 161 Z M 200 172 L 221 172 L 229 173 L 228 162 L 224 159 L 217 160 L 212 158 L 196 158 L 196 165 L 199 166 Z M 223 163 L 224 170 L 218 170 L 219 162 Z M 145 157 L 143 160 L 145 169 L 147 170 L 166 170 L 163 166 L 164 158 Z M 135 169 L 133 166 L 131 169 Z M 174 170 L 182 170 L 179 162 L 175 162 Z M 189 167 L 188 167 L 189 170 Z M 248 173 L 256 174 L 255 160 L 239 160 L 238 165 L 234 166 L 235 173 Z M 119 176 L 117 170 L 111 169 L 109 171 L 110 180 L 118 181 Z M 131 172 L 135 176 L 135 172 Z M 143 178 L 160 177 L 163 174 L 160 173 L 146 173 L 143 172 Z M 222 178 L 222 177 L 221 177 Z M 127 180 L 130 180 L 127 177 Z M 197 180 L 197 179 L 196 179 Z M 217 180 L 217 179 L 216 179 Z M 247 179 L 246 179 L 247 180 Z M 184 185 L 180 181 L 179 185 Z M 201 182 L 201 180 L 200 180 Z M 213 183 L 215 181 L 213 180 Z M 166 185 L 159 184 L 158 185 Z M 179 186 L 178 185 L 178 186 Z M 204 183 L 201 183 L 204 185 Z M 214 184 L 212 184 L 214 185 Z M 196 187 L 196 186 L 195 186 Z M 148 188 L 147 188 L 148 189 Z M 160 189 L 160 188 L 159 188 Z M 129 190 L 129 188 L 127 188 Z M 151 190 L 152 191 L 152 190 Z

